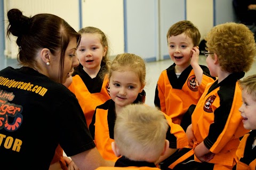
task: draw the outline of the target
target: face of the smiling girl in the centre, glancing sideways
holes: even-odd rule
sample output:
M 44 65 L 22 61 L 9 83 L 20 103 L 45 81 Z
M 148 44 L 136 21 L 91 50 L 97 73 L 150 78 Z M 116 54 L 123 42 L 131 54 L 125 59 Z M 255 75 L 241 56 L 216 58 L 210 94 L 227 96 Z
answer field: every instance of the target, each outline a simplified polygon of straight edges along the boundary
M 113 71 L 109 80 L 110 98 L 116 107 L 124 107 L 133 103 L 142 92 L 139 76 L 130 70 Z

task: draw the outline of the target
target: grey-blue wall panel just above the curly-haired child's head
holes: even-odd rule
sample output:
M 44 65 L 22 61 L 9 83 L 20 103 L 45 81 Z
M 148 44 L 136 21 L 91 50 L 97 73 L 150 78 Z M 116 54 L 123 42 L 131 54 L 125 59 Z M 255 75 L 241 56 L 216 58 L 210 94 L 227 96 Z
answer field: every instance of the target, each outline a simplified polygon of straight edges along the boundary
M 235 22 L 236 16 L 233 9 L 233 0 L 214 0 L 214 23 L 219 25 L 226 22 Z

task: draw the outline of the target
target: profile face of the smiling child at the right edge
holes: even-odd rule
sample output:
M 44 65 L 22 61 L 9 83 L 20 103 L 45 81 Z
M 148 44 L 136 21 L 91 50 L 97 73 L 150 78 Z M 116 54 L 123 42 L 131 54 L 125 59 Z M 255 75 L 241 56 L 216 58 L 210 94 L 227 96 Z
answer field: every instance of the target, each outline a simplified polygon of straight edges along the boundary
M 256 129 L 256 101 L 246 90 L 242 91 L 243 104 L 239 108 L 245 129 Z

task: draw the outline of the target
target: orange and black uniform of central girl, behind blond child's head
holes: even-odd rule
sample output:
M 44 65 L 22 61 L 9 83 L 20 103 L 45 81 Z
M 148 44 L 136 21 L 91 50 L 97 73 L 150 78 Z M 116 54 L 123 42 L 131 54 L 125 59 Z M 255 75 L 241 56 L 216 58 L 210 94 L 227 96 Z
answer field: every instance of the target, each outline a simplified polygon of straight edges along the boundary
M 133 103 L 143 103 L 142 100 L 143 98 L 141 98 L 139 94 Z M 111 142 L 114 141 L 114 126 L 116 120 L 114 108 L 115 102 L 111 99 L 98 106 L 94 112 L 92 123 L 89 126 L 90 133 L 101 156 L 106 160 L 112 161 L 118 159 L 111 148 Z M 169 147 L 176 149 L 188 145 L 188 139 L 182 127 L 173 124 L 169 116 L 165 115 L 165 117 L 169 124 L 169 130 L 166 134 L 166 139 L 170 142 Z

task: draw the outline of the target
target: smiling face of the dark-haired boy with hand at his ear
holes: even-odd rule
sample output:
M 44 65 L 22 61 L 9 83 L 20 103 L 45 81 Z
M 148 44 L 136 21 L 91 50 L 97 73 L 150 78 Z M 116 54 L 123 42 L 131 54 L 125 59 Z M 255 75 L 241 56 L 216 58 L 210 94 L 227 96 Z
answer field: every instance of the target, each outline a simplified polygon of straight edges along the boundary
M 177 36 L 171 36 L 167 39 L 168 51 L 172 61 L 181 68 L 187 68 L 190 65 L 191 50 L 193 42 L 185 33 Z

